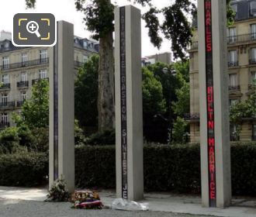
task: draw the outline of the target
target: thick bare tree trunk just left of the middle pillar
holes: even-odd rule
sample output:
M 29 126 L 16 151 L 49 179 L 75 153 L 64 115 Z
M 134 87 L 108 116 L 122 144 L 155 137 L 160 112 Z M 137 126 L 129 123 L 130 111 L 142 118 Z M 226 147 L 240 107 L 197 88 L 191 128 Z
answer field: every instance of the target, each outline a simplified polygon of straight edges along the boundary
M 114 129 L 114 57 L 113 36 L 108 33 L 99 39 L 99 132 Z

